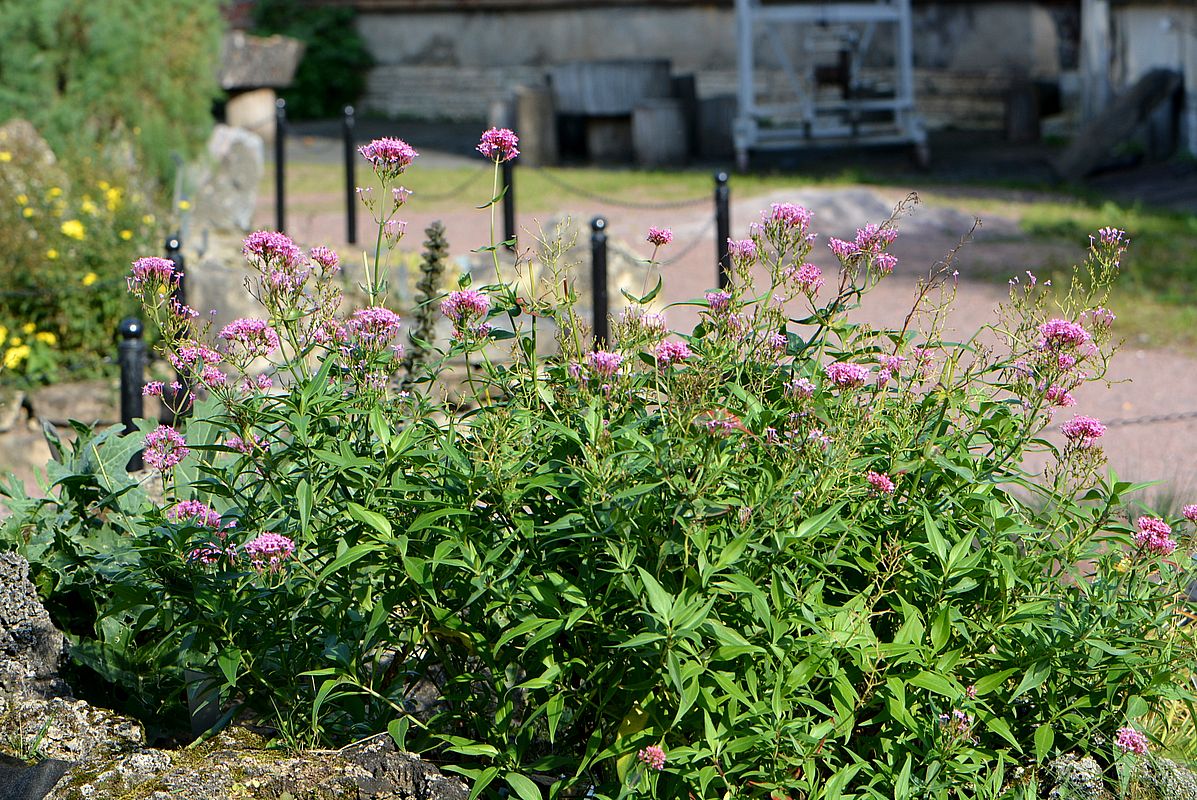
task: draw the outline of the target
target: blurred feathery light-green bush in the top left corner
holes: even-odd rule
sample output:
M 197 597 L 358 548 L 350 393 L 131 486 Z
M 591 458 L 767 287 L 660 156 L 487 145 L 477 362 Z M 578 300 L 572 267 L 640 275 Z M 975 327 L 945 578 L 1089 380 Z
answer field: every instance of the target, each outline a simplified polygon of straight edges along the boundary
M 101 146 L 127 165 L 132 150 L 166 177 L 211 127 L 221 32 L 215 0 L 6 0 L 0 121 L 31 121 L 60 157 Z

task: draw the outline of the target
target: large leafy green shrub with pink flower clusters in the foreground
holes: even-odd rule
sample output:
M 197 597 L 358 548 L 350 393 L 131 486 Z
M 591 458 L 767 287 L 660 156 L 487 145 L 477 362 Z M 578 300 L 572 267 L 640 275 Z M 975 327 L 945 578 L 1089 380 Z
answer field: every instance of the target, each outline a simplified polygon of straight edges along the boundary
M 514 145 L 480 150 L 498 168 Z M 365 154 L 394 244 L 414 153 Z M 145 707 L 193 669 L 226 720 L 292 744 L 387 729 L 475 794 L 1027 796 L 1071 751 L 1113 783 L 1149 746 L 1136 720 L 1192 699 L 1197 507 L 1136 515 L 1098 420 L 1041 434 L 1105 372 L 1125 237 L 952 343 L 947 267 L 900 329 L 851 321 L 895 236 L 832 240 L 825 275 L 809 213 L 773 206 L 689 334 L 648 309 L 658 284 L 600 349 L 561 265 L 530 289 L 492 243 L 500 279 L 444 297 L 454 339 L 402 393 L 397 320 L 340 313 L 328 251 L 251 235 L 263 317 L 219 347 L 144 260 L 168 357 L 211 395 L 186 436 L 146 436 L 165 503 L 121 469 L 129 440 L 84 435 L 56 497 L 10 492 L 7 535 L 77 657 Z

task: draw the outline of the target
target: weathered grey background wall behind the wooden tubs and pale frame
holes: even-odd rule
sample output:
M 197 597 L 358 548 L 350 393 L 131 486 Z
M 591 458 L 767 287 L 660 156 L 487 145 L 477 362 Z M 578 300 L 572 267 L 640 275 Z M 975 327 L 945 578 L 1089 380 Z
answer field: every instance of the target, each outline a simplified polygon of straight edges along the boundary
M 515 86 L 543 84 L 549 66 L 576 60 L 664 57 L 697 77 L 699 97 L 736 90 L 730 7 L 364 12 L 358 25 L 378 65 L 363 105 L 388 116 L 484 120 Z M 1069 5 L 922 2 L 913 28 L 916 96 L 931 127 L 999 127 L 1013 80 L 1076 68 Z M 776 65 L 760 66 L 766 83 L 784 84 Z

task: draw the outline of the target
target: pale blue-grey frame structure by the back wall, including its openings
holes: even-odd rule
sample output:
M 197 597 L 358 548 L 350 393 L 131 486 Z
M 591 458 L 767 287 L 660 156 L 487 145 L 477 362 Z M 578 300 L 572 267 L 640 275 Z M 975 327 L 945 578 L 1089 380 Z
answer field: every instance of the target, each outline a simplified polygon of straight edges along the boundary
M 736 0 L 736 37 L 740 169 L 752 150 L 792 146 L 909 144 L 930 160 L 910 0 Z

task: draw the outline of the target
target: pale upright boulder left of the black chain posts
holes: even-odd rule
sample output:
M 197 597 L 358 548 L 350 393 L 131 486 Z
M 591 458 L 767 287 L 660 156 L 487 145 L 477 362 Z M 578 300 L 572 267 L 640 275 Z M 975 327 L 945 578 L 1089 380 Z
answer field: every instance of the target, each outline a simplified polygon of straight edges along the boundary
M 266 145 L 260 135 L 218 125 L 208 139 L 207 163 L 196 176 L 189 235 L 248 231 L 265 169 Z

